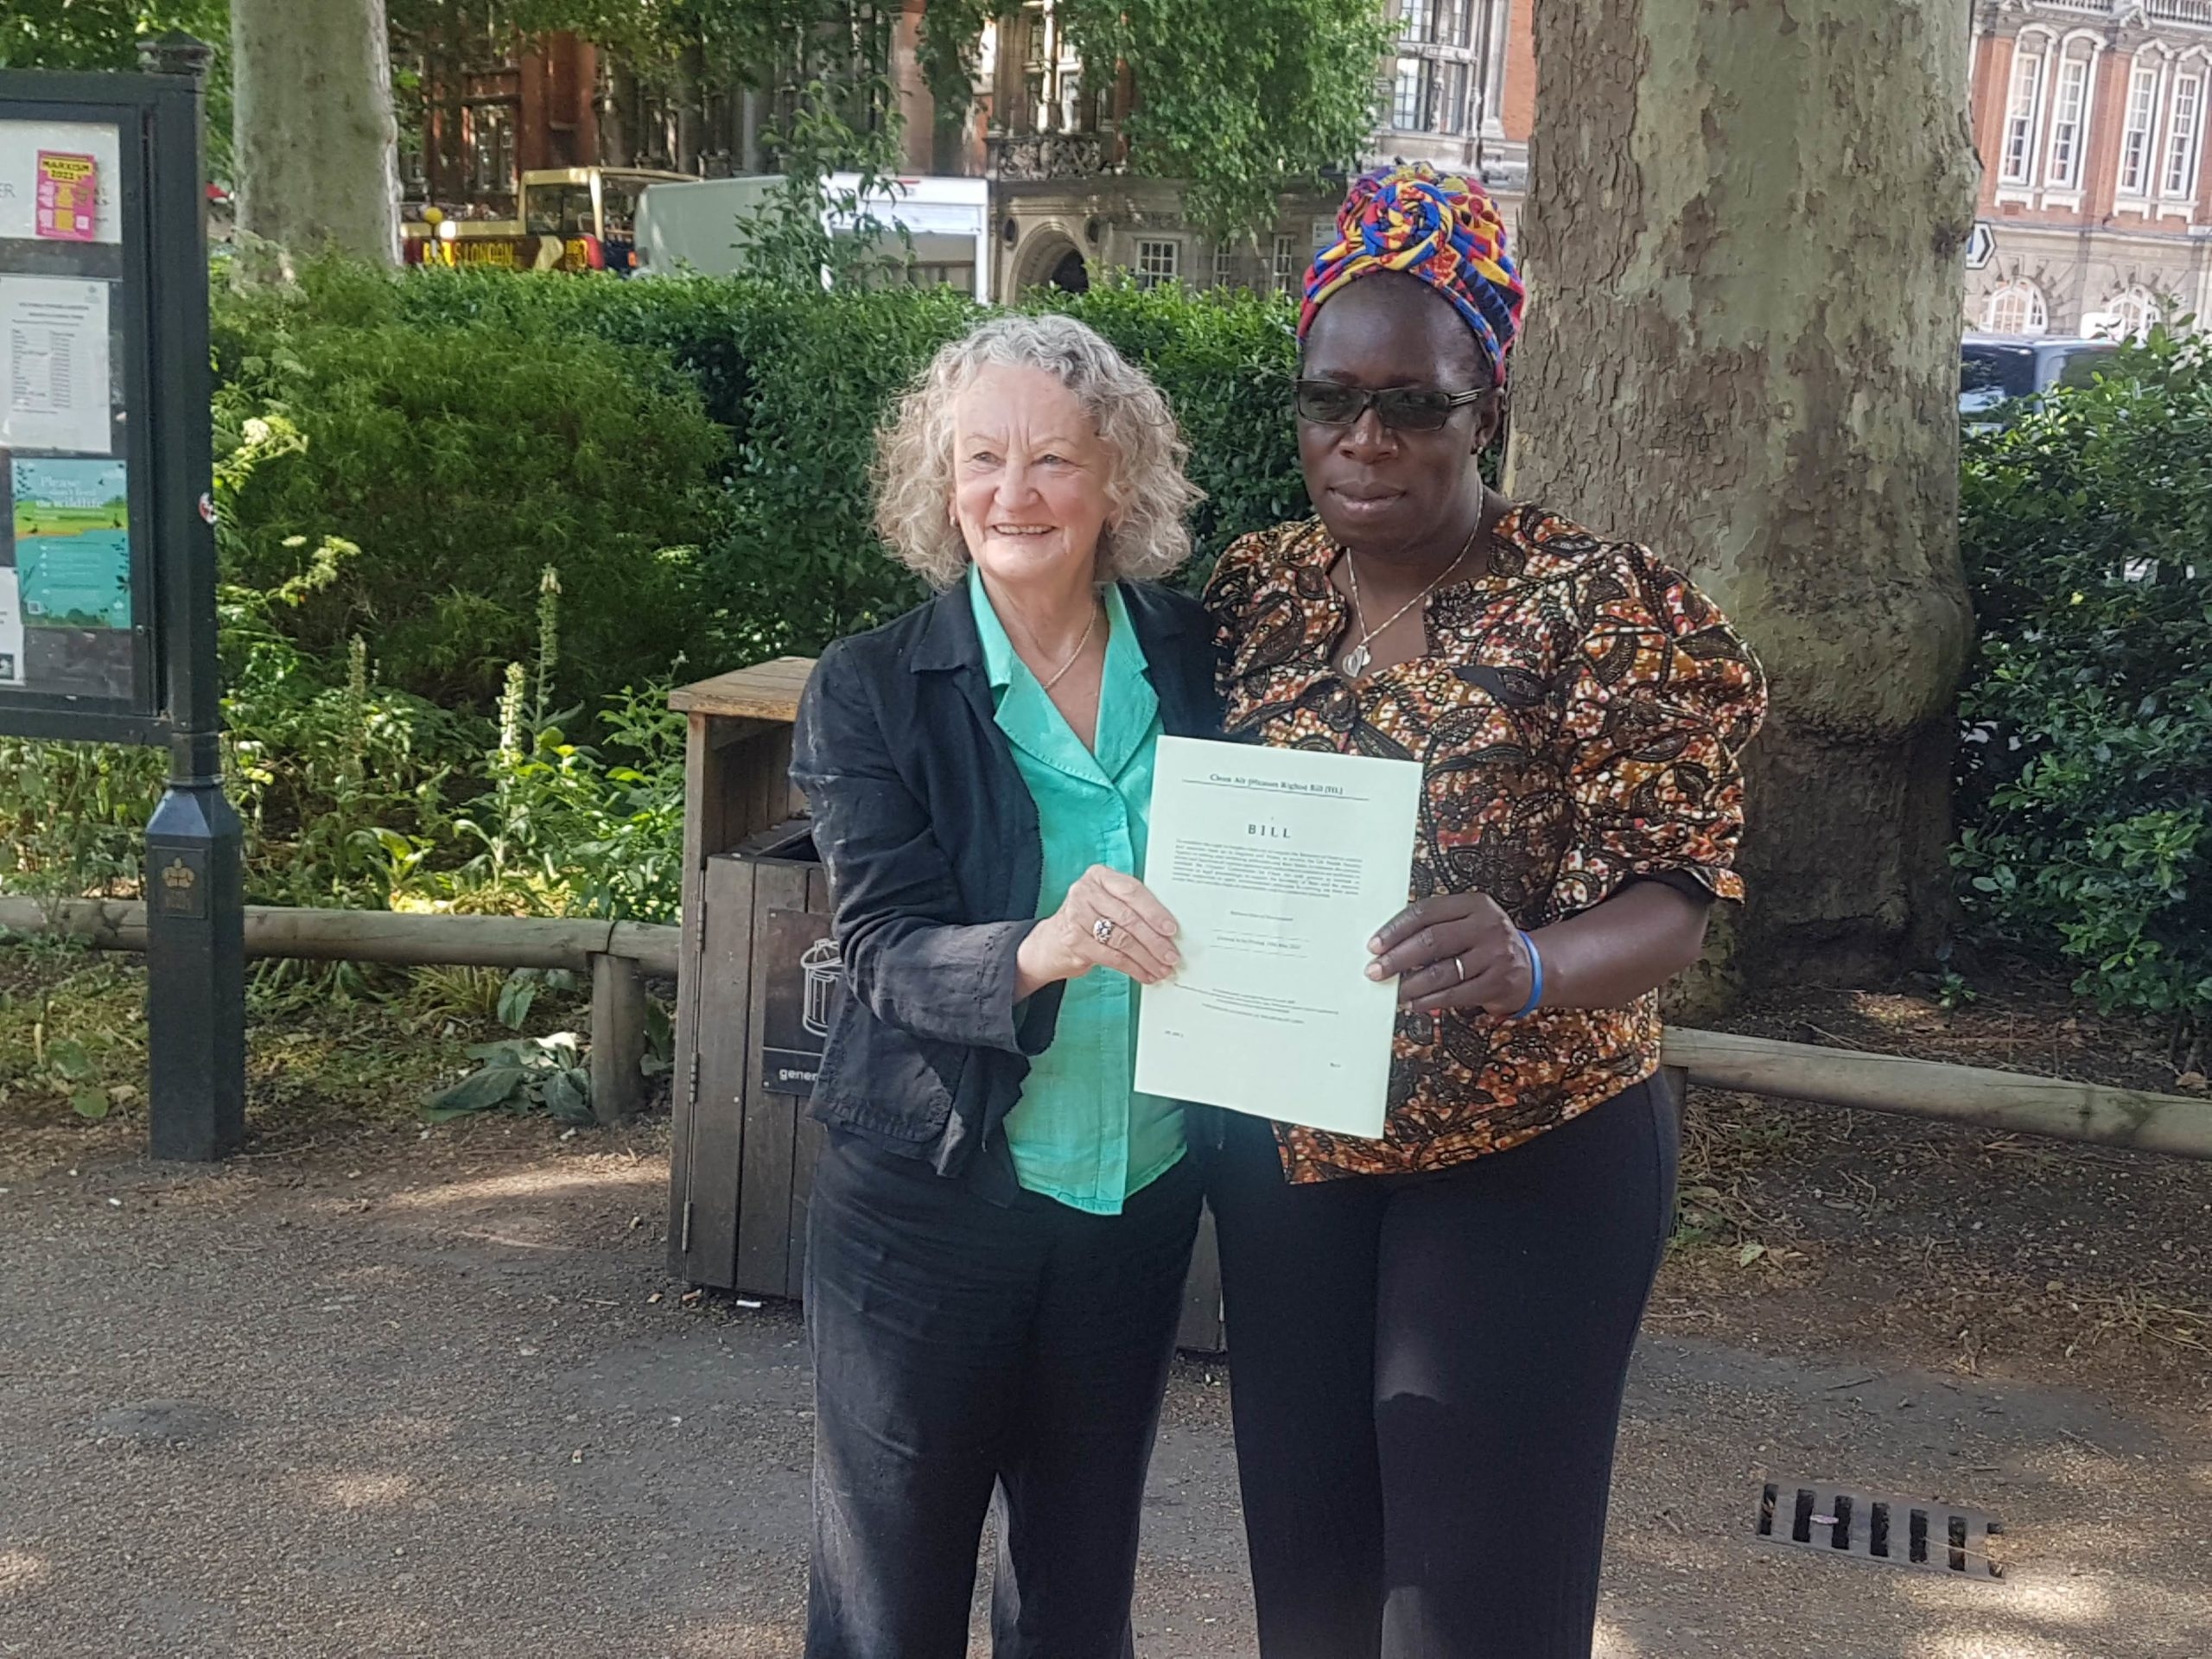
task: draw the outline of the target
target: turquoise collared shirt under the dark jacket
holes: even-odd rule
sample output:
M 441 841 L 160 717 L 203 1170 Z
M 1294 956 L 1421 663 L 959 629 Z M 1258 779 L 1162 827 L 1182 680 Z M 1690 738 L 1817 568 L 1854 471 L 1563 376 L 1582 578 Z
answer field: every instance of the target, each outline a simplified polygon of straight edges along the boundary
M 1095 748 L 1084 748 L 1015 655 L 975 571 L 969 571 L 969 599 L 998 728 L 1037 803 L 1044 832 L 1037 916 L 1044 918 L 1091 865 L 1130 876 L 1144 867 L 1159 697 L 1146 679 L 1144 646 L 1121 591 L 1108 586 L 1099 726 Z M 1015 1179 L 1077 1210 L 1119 1214 L 1130 1192 L 1175 1168 L 1183 1155 L 1183 1108 L 1139 1095 L 1135 1068 L 1137 982 L 1113 969 L 1071 980 L 1053 1044 L 1031 1062 L 1022 1099 L 1006 1113 Z

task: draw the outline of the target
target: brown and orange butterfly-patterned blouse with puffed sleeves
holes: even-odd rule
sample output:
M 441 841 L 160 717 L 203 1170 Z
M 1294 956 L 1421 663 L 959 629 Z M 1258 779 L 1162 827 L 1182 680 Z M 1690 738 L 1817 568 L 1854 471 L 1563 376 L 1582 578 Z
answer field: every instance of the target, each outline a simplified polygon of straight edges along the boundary
M 1489 571 L 1427 602 L 1427 655 L 1365 686 L 1332 664 L 1349 606 L 1318 520 L 1234 542 L 1206 606 L 1232 737 L 1420 761 L 1413 898 L 1480 889 L 1524 929 L 1630 880 L 1741 898 L 1739 757 L 1765 717 L 1759 659 L 1677 571 L 1533 507 Z M 1292 1181 L 1502 1152 L 1652 1075 L 1659 995 L 1526 1020 L 1402 1013 L 1380 1141 L 1279 1126 Z

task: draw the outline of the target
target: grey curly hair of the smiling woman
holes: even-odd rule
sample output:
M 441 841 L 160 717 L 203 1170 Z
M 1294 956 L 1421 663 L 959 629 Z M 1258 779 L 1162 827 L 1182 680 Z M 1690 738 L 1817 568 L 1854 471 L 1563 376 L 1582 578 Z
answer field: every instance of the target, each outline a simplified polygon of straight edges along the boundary
M 876 533 L 931 586 L 967 573 L 953 495 L 953 403 L 987 367 L 1044 369 L 1075 394 L 1113 458 L 1102 580 L 1168 575 L 1190 557 L 1188 513 L 1206 491 L 1183 478 L 1190 445 L 1168 400 L 1073 316 L 995 316 L 945 345 L 876 434 Z

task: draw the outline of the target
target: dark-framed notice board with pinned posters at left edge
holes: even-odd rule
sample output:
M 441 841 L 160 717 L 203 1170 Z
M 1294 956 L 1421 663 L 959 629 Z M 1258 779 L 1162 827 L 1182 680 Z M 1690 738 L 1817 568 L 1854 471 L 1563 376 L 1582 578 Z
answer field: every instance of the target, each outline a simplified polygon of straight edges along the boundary
M 153 212 L 157 146 L 190 164 L 197 139 L 131 80 L 0 75 L 0 732 L 24 737 L 159 741 L 164 584 L 212 560 L 212 504 L 164 478 L 206 431 L 164 420 L 164 385 L 206 372 L 164 365 L 157 288 L 206 268 L 161 259 L 197 239 Z

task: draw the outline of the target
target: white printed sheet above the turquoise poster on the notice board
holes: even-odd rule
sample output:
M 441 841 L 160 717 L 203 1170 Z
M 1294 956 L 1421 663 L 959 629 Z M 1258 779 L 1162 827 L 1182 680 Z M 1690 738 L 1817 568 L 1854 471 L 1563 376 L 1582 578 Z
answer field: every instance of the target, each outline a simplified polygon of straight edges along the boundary
M 0 449 L 111 447 L 108 285 L 0 276 Z

